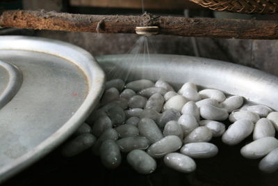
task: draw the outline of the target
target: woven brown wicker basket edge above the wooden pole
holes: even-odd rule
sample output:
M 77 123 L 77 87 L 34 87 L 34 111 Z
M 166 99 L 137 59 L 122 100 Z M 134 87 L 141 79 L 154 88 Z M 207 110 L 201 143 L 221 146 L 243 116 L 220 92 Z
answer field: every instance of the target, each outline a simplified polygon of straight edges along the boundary
M 277 12 L 278 0 L 190 0 L 211 10 L 234 13 L 271 14 Z

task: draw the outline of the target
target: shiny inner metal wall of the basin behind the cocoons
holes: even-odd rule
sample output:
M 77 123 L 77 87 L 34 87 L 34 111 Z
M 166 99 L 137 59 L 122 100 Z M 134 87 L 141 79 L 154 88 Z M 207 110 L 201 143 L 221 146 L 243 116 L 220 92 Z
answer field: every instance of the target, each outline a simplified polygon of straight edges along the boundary
M 167 54 L 107 55 L 98 56 L 97 61 L 108 79 L 163 79 L 176 90 L 185 82 L 193 82 L 278 110 L 278 77 L 243 65 Z

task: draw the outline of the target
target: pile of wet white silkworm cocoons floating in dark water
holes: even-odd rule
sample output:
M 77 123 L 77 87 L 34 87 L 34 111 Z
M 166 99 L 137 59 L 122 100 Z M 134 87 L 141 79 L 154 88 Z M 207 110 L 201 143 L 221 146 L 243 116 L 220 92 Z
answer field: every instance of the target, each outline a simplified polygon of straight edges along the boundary
M 223 123 L 228 120 L 229 127 Z M 99 106 L 63 145 L 62 154 L 72 157 L 90 150 L 108 169 L 117 168 L 126 157 L 142 174 L 155 171 L 156 160 L 163 159 L 166 166 L 190 173 L 196 169 L 194 159 L 218 154 L 218 147 L 209 142 L 213 137 L 234 146 L 253 135 L 254 141 L 240 153 L 249 159 L 263 157 L 259 169 L 272 173 L 278 169 L 275 130 L 278 112 L 248 104 L 240 95 L 198 90 L 190 82 L 175 91 L 161 79 L 127 84 L 111 79 Z

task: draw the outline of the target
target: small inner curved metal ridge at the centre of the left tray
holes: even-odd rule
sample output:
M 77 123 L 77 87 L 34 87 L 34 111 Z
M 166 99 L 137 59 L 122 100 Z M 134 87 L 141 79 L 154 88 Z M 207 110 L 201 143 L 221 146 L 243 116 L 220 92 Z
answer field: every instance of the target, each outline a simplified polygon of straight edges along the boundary
M 0 109 L 4 107 L 16 94 L 22 86 L 22 72 L 15 65 L 0 60 L 0 66 L 7 70 L 9 75 L 8 85 L 0 95 Z

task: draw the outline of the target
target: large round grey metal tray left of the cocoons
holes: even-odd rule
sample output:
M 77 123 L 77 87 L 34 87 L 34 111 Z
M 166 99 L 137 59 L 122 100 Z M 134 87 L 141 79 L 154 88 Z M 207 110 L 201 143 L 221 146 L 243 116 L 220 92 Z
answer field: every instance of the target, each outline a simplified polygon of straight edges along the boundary
M 96 106 L 105 75 L 84 49 L 0 37 L 0 183 L 46 155 Z

